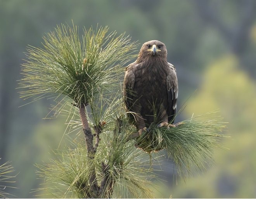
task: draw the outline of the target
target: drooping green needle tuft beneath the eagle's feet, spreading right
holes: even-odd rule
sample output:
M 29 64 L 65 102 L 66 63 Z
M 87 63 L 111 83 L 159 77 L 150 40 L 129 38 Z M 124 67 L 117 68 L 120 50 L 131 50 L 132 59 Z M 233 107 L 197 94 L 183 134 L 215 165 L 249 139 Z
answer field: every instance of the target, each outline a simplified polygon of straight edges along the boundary
M 215 113 L 192 117 L 170 129 L 152 124 L 149 133 L 145 132 L 137 138 L 136 145 L 147 153 L 166 149 L 179 174 L 189 176 L 193 168 L 202 170 L 214 163 L 216 148 L 226 149 L 220 141 L 229 137 L 221 134 L 226 122 L 214 116 Z

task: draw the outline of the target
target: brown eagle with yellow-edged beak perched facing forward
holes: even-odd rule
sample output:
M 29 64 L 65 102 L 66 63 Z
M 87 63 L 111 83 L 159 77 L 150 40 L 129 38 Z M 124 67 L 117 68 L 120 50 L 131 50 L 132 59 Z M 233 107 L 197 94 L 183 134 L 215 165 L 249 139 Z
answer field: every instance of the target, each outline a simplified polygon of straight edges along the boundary
M 137 60 L 126 68 L 123 94 L 126 111 L 140 133 L 152 122 L 175 126 L 178 80 L 164 43 L 152 40 L 142 45 Z

